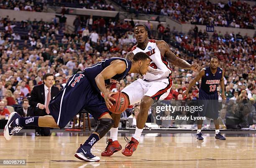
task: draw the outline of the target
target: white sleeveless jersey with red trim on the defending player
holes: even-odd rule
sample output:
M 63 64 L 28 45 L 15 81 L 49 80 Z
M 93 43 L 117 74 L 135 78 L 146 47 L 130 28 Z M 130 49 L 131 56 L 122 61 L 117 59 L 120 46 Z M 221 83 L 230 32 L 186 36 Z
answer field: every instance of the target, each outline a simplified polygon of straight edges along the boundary
M 161 55 L 159 48 L 156 46 L 155 40 L 149 40 L 145 50 L 142 50 L 136 46 L 132 48 L 132 52 L 135 55 L 138 52 L 146 53 L 150 59 L 150 67 L 148 73 L 143 75 L 145 80 L 156 80 L 160 78 L 169 77 L 172 73 L 166 58 Z

